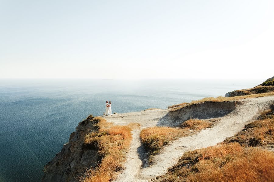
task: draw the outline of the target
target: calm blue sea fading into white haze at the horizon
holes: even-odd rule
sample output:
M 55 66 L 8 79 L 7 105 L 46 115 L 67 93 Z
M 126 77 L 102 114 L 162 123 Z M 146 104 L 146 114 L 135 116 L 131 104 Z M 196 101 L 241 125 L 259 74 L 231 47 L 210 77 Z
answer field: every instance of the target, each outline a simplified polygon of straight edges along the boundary
M 0 181 L 40 181 L 43 166 L 89 114 L 162 108 L 264 80 L 0 80 Z

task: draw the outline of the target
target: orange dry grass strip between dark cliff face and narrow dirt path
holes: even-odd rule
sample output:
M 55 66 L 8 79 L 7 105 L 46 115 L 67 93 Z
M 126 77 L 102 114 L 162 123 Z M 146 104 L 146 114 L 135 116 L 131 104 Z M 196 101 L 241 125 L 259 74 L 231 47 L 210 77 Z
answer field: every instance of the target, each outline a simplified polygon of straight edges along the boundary
M 87 133 L 84 137 L 85 147 L 98 150 L 100 157 L 98 166 L 89 169 L 82 176 L 80 182 L 108 182 L 114 179 L 115 172 L 122 169 L 125 152 L 128 149 L 131 128 L 128 126 L 112 126 L 103 118 L 96 118 L 99 122 L 97 132 Z

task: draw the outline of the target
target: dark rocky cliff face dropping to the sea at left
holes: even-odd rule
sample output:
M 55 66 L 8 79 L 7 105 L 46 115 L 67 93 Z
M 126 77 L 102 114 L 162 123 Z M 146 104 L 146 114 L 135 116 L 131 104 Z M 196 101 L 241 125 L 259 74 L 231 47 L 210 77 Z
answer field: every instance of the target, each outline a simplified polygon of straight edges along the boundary
M 50 181 L 77 181 L 86 168 L 95 167 L 98 160 L 97 150 L 83 146 L 86 133 L 97 130 L 93 126 L 93 117 L 89 116 L 76 127 L 76 132 L 71 133 L 69 142 L 64 145 L 61 152 L 56 154 L 44 167 L 42 182 Z

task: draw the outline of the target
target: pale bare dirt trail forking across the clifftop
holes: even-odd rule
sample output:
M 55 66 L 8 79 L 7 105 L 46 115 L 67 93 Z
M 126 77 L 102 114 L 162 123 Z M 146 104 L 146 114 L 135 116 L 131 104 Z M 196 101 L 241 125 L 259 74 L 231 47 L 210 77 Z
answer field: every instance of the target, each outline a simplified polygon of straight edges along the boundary
M 108 122 L 114 125 L 127 125 L 139 123 L 141 126 L 132 130 L 132 142 L 127 153 L 124 170 L 118 175 L 115 182 L 141 182 L 151 181 L 167 172 L 169 167 L 177 163 L 184 152 L 197 148 L 216 145 L 229 136 L 233 136 L 258 116 L 258 113 L 274 103 L 274 96 L 242 99 L 238 101 L 236 109 L 226 116 L 217 118 L 219 121 L 212 128 L 187 137 L 182 137 L 167 145 L 158 155 L 153 157 L 153 164 L 148 166 L 147 156 L 139 139 L 143 128 L 159 126 L 159 120 L 166 120 L 162 125 L 171 123 L 164 117 L 170 110 L 145 110 L 141 112 L 113 114 L 105 116 Z M 183 122 L 183 121 L 182 121 Z

